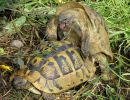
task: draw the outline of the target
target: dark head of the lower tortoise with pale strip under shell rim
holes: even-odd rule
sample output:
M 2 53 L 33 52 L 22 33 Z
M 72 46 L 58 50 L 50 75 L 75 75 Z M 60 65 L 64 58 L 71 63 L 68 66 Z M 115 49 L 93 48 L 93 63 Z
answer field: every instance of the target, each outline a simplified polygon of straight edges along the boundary
M 29 90 L 32 93 L 41 94 L 40 91 L 37 90 L 34 85 L 26 79 L 26 77 L 21 75 L 14 75 L 12 84 L 15 89 Z

